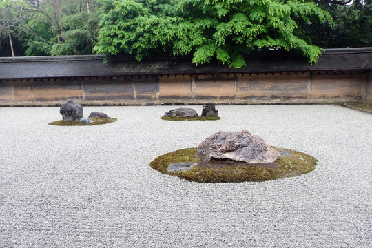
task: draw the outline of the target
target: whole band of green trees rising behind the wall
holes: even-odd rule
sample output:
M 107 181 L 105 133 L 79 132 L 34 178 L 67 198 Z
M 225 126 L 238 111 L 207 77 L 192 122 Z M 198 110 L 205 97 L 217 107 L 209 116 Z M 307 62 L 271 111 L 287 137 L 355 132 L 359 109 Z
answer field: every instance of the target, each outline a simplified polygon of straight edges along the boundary
M 322 10 L 320 9 L 322 8 Z M 334 25 L 331 17 L 334 19 Z M 254 50 L 372 46 L 371 0 L 0 0 L 0 56 L 192 55 L 240 67 Z M 58 43 L 58 39 L 60 43 Z

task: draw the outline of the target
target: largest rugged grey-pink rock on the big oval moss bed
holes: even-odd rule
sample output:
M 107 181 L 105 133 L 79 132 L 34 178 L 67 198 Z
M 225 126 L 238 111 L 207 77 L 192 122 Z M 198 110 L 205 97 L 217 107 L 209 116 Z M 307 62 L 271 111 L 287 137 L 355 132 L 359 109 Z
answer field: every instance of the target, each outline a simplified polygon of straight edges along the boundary
M 259 136 L 252 136 L 247 130 L 216 132 L 200 143 L 195 156 L 201 161 L 227 158 L 247 163 L 272 163 L 280 158 L 279 152 Z

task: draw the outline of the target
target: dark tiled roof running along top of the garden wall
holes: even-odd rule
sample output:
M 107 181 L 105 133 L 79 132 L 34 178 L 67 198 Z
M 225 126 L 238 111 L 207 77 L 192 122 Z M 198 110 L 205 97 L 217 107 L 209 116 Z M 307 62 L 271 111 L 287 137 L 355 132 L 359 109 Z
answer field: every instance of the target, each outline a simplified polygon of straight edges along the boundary
M 218 63 L 196 66 L 190 57 L 155 57 L 138 62 L 132 56 L 114 56 L 107 65 L 104 58 L 104 55 L 0 58 L 0 79 L 372 71 L 372 48 L 326 49 L 316 65 L 310 65 L 302 56 L 262 52 L 247 57 L 247 65 L 239 69 Z

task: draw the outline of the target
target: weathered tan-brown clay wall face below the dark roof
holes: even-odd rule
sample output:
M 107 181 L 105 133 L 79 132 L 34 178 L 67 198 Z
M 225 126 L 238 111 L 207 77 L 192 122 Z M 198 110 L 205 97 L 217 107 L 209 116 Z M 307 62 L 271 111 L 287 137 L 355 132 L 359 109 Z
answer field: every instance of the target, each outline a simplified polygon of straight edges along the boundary
M 313 103 L 371 100 L 370 74 L 237 74 L 12 79 L 0 84 L 0 103 L 161 104 Z

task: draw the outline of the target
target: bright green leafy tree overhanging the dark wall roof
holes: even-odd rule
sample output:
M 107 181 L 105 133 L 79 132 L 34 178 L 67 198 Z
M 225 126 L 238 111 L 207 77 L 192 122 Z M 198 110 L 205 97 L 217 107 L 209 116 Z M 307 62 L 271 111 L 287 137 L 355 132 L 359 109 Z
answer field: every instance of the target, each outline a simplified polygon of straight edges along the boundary
M 304 0 L 101 0 L 101 54 L 159 52 L 193 55 L 193 62 L 240 68 L 253 50 L 293 50 L 317 61 L 321 48 L 304 39 L 297 20 L 332 23 L 328 12 Z

